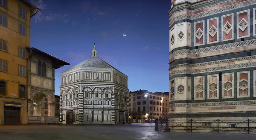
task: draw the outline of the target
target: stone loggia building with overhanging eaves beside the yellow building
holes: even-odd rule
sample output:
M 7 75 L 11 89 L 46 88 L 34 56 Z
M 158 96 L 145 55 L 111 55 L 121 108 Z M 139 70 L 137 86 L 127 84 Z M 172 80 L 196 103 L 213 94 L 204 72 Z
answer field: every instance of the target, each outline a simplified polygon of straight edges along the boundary
M 28 116 L 29 123 L 58 123 L 55 117 L 54 81 L 55 69 L 69 63 L 34 47 L 29 51 L 28 71 Z

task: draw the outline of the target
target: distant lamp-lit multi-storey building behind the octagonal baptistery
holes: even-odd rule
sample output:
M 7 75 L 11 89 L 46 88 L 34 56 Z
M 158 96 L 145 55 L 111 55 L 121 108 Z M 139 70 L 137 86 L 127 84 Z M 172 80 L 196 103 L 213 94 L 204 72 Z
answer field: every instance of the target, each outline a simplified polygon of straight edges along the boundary
M 169 111 L 168 92 L 147 90 L 129 92 L 129 112 L 132 123 L 144 123 L 145 119 L 167 117 Z

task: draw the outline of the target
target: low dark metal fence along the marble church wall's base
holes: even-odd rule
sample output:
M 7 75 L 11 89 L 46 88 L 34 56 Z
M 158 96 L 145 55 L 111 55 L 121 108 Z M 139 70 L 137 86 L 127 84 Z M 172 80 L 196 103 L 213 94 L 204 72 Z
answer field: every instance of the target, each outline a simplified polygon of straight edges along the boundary
M 169 120 L 156 119 L 155 131 L 166 132 L 211 132 L 211 133 L 247 133 L 256 134 L 256 120 Z

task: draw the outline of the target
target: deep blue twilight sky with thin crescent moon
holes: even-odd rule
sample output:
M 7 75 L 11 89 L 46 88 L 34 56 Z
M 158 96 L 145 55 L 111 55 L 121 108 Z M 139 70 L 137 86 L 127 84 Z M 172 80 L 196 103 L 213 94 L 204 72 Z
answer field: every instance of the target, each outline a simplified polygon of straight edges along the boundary
M 55 70 L 55 94 L 61 72 L 91 57 L 93 43 L 98 57 L 129 77 L 130 91 L 169 91 L 171 0 L 30 2 L 41 9 L 31 19 L 31 46 L 71 64 Z

